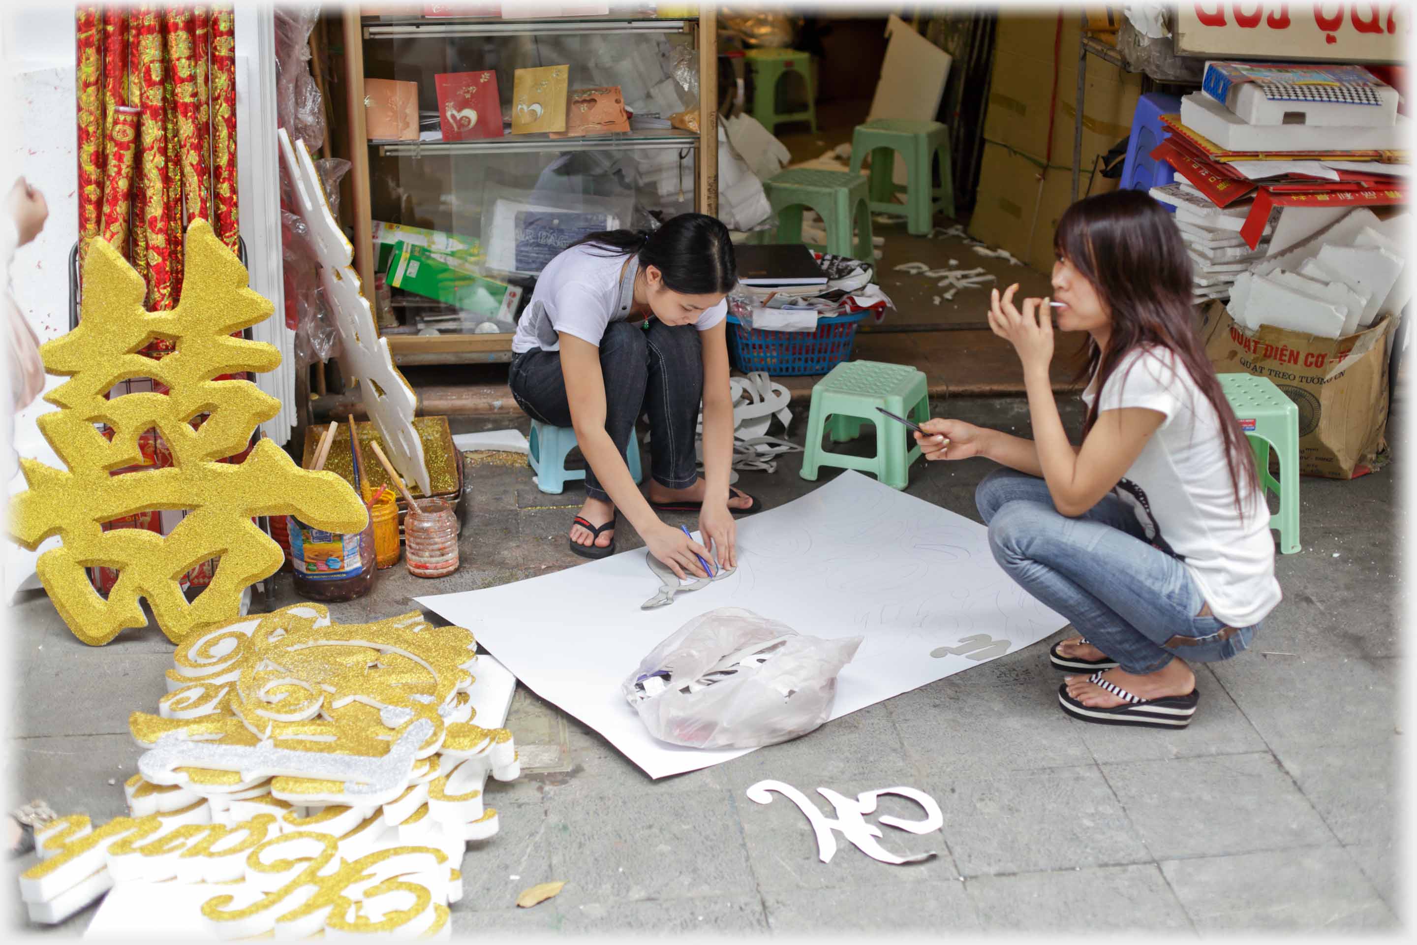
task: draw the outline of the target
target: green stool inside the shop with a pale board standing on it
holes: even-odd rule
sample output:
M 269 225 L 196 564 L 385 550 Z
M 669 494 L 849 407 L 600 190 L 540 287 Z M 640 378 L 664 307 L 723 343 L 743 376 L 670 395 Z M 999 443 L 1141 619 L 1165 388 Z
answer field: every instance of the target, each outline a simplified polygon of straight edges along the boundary
M 894 183 L 896 159 L 905 159 L 905 186 Z M 934 227 L 935 213 L 955 215 L 955 180 L 949 164 L 949 129 L 939 122 L 880 119 L 857 125 L 852 132 L 852 171 L 860 171 L 871 156 L 870 207 L 876 213 L 900 213 L 894 197 L 905 191 L 905 230 L 922 237 Z M 939 159 L 939 187 L 934 186 L 935 157 Z

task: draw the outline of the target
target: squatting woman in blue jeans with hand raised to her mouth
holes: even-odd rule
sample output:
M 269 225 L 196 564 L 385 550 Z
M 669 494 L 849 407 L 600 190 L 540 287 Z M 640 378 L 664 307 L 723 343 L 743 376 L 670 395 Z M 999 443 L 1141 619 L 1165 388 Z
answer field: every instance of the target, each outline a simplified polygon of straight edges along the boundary
M 1280 602 L 1254 459 L 1193 327 L 1190 262 L 1145 193 L 1073 204 L 1053 238 L 1057 324 L 1088 332 L 1087 424 L 1073 446 L 1049 380 L 1050 299 L 993 292 L 989 324 L 1023 363 L 1034 439 L 924 424 L 927 459 L 1007 469 L 976 493 L 995 560 L 1083 636 L 1051 662 L 1084 721 L 1178 728 L 1199 693 L 1189 662 L 1243 652 Z

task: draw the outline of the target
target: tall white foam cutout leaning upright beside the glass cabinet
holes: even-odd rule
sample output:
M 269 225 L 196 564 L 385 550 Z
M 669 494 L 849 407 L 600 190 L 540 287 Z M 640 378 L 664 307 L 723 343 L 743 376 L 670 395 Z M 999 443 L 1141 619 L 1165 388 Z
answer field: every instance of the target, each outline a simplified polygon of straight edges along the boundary
M 404 375 L 394 367 L 388 354 L 388 341 L 378 336 L 368 299 L 354 272 L 354 247 L 344 238 L 324 198 L 324 186 L 310 160 L 305 142 L 290 145 L 285 129 L 276 135 L 281 139 L 281 154 L 295 191 L 296 213 L 310 228 L 310 242 L 320 258 L 320 285 L 334 313 L 334 326 L 340 333 L 344 353 L 340 367 L 351 380 L 359 381 L 360 397 L 368 418 L 378 428 L 384 451 L 394 468 L 405 480 L 418 483 L 425 496 L 432 494 L 428 477 L 428 463 L 424 460 L 424 445 L 414 429 L 414 411 L 418 398 Z

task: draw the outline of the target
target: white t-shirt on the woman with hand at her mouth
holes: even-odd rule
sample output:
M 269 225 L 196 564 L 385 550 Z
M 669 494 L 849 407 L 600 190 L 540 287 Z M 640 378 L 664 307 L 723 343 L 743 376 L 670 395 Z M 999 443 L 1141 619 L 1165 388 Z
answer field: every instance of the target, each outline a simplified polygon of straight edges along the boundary
M 1097 397 L 1097 378 L 1083 400 Z M 1107 380 L 1105 411 L 1144 407 L 1166 415 L 1112 489 L 1129 504 L 1146 537 L 1180 558 L 1216 618 L 1251 626 L 1280 602 L 1274 538 L 1264 496 L 1241 483 L 1244 520 L 1236 514 L 1230 470 L 1216 409 L 1186 366 L 1163 349 L 1135 350 Z M 1248 455 L 1243 462 L 1253 462 Z

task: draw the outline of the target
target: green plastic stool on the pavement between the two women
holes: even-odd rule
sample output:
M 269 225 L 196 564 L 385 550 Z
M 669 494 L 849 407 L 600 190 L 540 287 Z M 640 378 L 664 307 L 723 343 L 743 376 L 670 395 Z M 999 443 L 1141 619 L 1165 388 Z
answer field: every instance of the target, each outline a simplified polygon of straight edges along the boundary
M 905 364 L 847 361 L 812 388 L 812 408 L 806 421 L 806 452 L 802 479 L 816 479 L 820 466 L 859 469 L 876 479 L 904 489 L 910 485 L 910 465 L 920 459 L 920 446 L 907 448 L 910 429 L 876 412 L 877 407 L 897 417 L 911 417 L 922 424 L 930 419 L 930 385 L 925 375 Z M 907 412 L 908 411 L 908 412 Z M 822 449 L 822 435 L 832 434 L 833 443 L 856 439 L 862 424 L 876 425 L 874 456 L 845 456 Z

